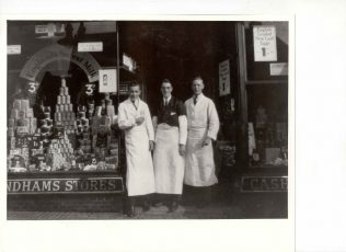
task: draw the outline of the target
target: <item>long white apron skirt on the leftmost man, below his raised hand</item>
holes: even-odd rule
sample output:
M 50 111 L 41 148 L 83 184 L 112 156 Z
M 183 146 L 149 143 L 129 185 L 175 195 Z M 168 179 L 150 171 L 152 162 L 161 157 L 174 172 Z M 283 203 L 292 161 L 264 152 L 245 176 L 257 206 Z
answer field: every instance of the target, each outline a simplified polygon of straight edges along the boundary
M 125 134 L 128 196 L 154 193 L 154 175 L 147 128 L 136 126 Z

